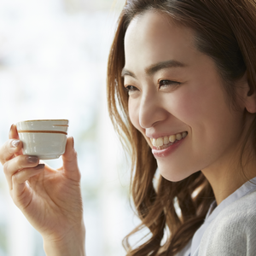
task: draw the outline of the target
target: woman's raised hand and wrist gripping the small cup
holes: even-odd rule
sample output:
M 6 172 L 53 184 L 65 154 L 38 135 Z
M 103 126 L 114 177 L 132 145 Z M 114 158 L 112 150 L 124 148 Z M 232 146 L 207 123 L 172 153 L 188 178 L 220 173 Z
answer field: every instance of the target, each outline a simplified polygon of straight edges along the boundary
M 23 155 L 21 149 L 12 125 L 9 141 L 0 148 L 0 161 L 15 205 L 43 236 L 47 255 L 84 255 L 81 175 L 73 138 L 67 138 L 63 166 L 57 170 Z

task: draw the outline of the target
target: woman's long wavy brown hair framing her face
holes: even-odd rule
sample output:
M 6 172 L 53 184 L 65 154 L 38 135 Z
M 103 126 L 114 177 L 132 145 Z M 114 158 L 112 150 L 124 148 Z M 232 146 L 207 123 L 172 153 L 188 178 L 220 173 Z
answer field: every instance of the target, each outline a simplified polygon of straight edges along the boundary
M 195 47 L 215 61 L 224 81 L 230 106 L 236 107 L 233 83 L 247 72 L 252 95 L 256 84 L 256 3 L 253 0 L 128 0 L 119 22 L 108 59 L 108 111 L 121 141 L 131 152 L 131 195 L 140 224 L 123 244 L 129 256 L 175 255 L 195 234 L 206 217 L 214 195 L 200 172 L 180 182 L 154 176 L 157 163 L 143 135 L 131 125 L 128 95 L 121 77 L 125 66 L 124 38 L 127 27 L 137 15 L 154 9 L 182 26 L 195 31 Z M 256 121 L 247 133 L 256 147 Z M 245 141 L 246 143 L 246 141 Z M 244 144 L 245 145 L 245 144 Z M 253 148 L 256 152 L 256 148 Z M 196 193 L 195 193 L 196 192 Z M 177 212 L 177 207 L 180 212 Z M 143 228 L 147 241 L 131 247 L 128 239 Z M 163 237 L 168 238 L 163 243 Z

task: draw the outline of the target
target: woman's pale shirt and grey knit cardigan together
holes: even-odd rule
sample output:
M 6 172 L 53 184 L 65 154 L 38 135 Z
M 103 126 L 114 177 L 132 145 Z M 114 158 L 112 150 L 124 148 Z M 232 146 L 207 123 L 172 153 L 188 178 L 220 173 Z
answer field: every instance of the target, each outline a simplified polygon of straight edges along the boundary
M 176 256 L 256 256 L 256 177 L 218 206 Z

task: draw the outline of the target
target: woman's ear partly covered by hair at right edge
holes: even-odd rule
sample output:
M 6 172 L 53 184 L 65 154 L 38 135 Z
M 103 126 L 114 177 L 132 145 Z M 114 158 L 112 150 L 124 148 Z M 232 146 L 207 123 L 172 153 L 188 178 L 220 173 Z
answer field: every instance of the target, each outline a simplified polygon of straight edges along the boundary
M 241 88 L 241 95 L 243 99 L 243 106 L 247 109 L 248 113 L 256 113 L 256 91 L 253 85 L 247 79 L 247 72 L 239 81 Z M 251 86 L 250 86 L 251 85 Z M 253 91 L 251 90 L 253 88 Z

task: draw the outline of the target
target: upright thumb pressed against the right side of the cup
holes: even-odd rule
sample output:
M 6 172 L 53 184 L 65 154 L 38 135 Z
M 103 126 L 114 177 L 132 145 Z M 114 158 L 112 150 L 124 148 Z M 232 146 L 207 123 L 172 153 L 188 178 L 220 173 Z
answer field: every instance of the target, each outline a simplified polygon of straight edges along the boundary
M 74 149 L 73 137 L 67 138 L 66 151 L 62 155 L 63 170 L 68 178 L 80 181 L 78 154 Z

